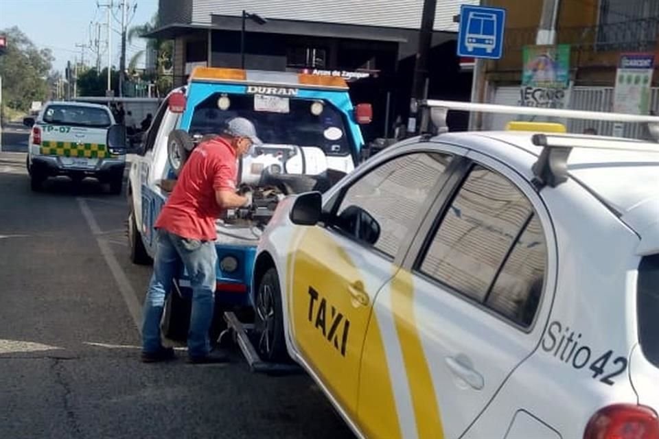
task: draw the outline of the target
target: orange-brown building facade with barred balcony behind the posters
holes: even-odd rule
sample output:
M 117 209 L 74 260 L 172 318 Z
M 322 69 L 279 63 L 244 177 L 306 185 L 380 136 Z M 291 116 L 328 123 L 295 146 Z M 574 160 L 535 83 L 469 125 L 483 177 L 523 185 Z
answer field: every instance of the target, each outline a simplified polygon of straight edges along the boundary
M 490 0 L 507 9 L 504 56 L 486 63 L 487 99 L 518 105 L 522 80 L 522 51 L 534 45 L 542 14 L 542 0 Z M 656 54 L 659 34 L 657 0 L 561 0 L 557 15 L 557 44 L 570 45 L 570 95 L 568 108 L 612 111 L 616 70 L 621 54 Z M 655 66 L 658 60 L 655 60 Z M 651 110 L 659 112 L 659 75 L 653 75 Z M 486 118 L 486 129 L 501 129 L 508 117 Z M 568 128 L 581 132 L 596 128 L 612 134 L 612 123 L 569 121 Z M 625 135 L 638 137 L 641 127 L 629 124 Z

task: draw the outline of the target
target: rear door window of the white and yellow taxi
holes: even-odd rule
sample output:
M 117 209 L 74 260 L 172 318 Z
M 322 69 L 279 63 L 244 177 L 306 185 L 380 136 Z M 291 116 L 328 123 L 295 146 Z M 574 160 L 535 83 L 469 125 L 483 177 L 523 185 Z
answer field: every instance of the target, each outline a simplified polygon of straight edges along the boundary
M 529 327 L 545 265 L 544 234 L 531 202 L 507 178 L 474 167 L 432 237 L 419 271 Z

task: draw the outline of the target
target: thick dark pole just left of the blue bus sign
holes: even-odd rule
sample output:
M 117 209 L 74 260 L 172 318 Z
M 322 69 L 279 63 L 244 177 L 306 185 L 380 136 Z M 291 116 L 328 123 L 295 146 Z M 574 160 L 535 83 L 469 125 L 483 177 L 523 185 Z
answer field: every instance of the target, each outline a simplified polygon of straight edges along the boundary
M 432 31 L 435 27 L 435 10 L 437 0 L 425 0 L 424 12 L 421 16 L 421 29 L 419 31 L 419 49 L 412 80 L 412 96 L 410 99 L 410 117 L 407 121 L 407 132 L 417 132 L 417 110 L 419 101 L 428 95 L 428 54 L 432 45 Z

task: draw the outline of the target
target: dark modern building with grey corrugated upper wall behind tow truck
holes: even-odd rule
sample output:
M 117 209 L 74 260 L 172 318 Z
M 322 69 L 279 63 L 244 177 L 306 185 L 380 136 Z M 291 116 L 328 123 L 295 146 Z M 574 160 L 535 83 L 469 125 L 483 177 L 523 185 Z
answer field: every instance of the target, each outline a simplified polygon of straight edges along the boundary
M 461 4 L 438 1 L 429 60 L 430 97 L 468 100 L 472 75 L 456 56 Z M 161 27 L 148 36 L 174 40 L 174 85 L 198 65 L 241 67 L 242 11 L 246 20 L 244 67 L 275 71 L 339 72 L 355 103 L 374 108 L 365 137 L 391 135 L 408 114 L 418 29 L 424 0 L 160 0 Z M 459 120 L 459 125 L 466 125 Z

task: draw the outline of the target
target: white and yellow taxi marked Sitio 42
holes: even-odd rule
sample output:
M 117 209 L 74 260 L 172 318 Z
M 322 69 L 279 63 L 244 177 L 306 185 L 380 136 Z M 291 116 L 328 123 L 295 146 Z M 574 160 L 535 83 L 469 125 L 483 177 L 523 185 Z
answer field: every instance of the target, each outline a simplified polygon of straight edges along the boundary
M 658 152 L 445 133 L 286 198 L 255 261 L 259 353 L 359 437 L 659 439 Z

